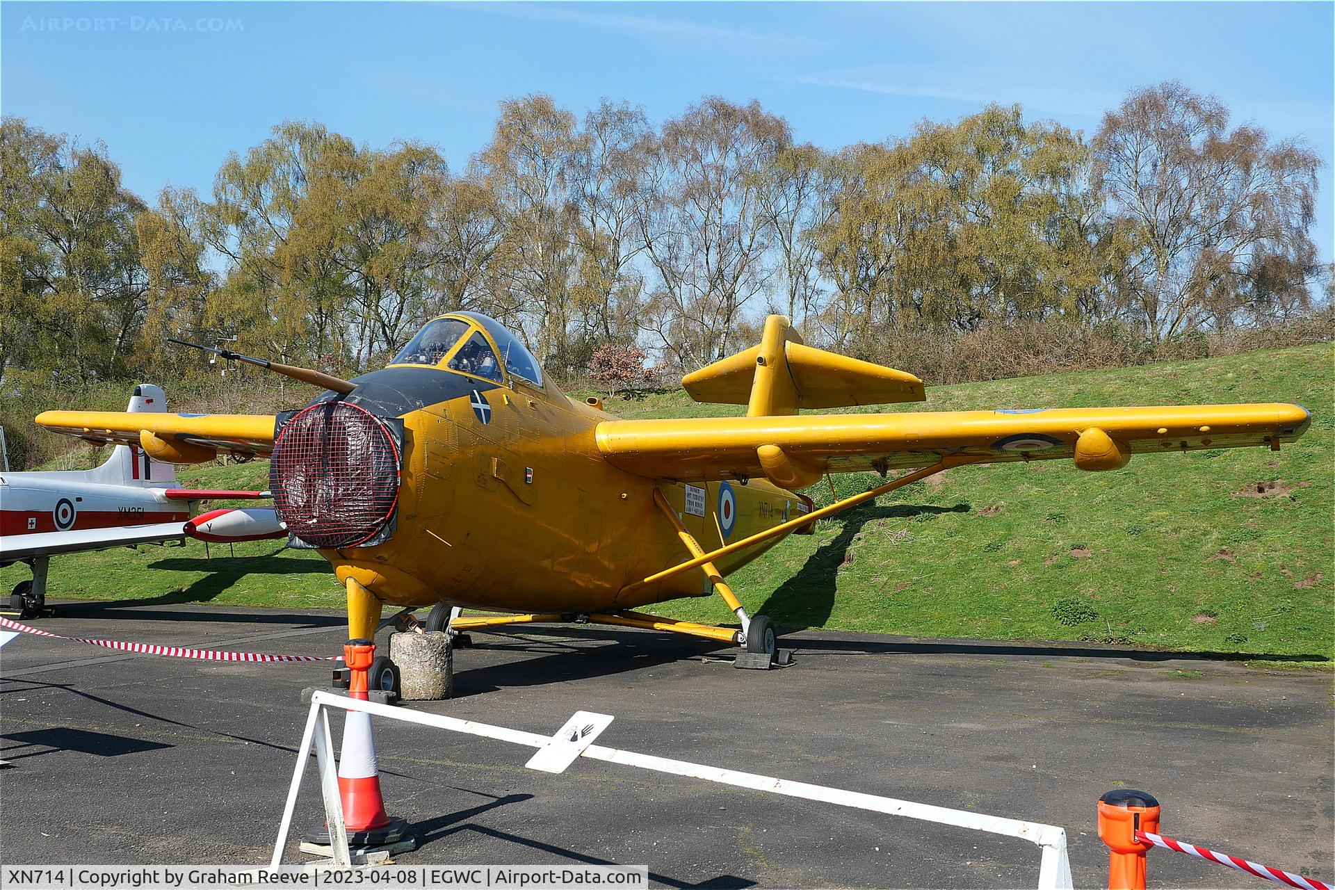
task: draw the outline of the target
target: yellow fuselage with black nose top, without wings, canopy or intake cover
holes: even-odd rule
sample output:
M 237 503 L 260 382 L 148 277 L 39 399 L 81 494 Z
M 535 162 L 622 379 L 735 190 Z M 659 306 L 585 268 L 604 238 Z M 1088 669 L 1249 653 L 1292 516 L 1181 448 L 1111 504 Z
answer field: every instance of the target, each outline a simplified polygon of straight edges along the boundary
M 655 487 L 706 551 L 805 510 L 765 480 L 688 486 L 610 466 L 594 431 L 611 416 L 551 382 L 511 388 L 409 366 L 354 382 L 350 404 L 405 424 L 395 528 L 375 546 L 320 552 L 339 580 L 351 576 L 386 602 L 583 614 L 706 595 L 701 572 L 622 594 L 689 558 L 654 504 Z M 718 560 L 720 571 L 777 540 Z

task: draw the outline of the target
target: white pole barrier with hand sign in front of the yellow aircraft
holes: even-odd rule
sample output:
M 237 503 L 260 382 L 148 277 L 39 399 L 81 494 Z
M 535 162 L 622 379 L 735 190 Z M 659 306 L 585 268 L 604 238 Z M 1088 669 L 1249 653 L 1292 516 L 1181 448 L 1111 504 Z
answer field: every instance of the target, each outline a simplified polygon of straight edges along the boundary
M 292 821 L 292 810 L 296 805 L 296 794 L 304 773 L 303 767 L 306 758 L 310 757 L 311 729 L 314 726 L 315 714 L 324 707 L 338 707 L 346 711 L 364 711 L 375 717 L 384 717 L 388 719 L 402 721 L 405 723 L 431 726 L 441 730 L 450 730 L 451 733 L 465 733 L 467 735 L 481 735 L 499 742 L 526 745 L 537 749 L 566 746 L 575 742 L 575 739 L 571 739 L 566 733 L 558 733 L 555 737 L 538 735 L 537 733 L 525 733 L 522 730 L 511 730 L 505 726 L 491 726 L 490 723 L 477 723 L 474 721 L 446 717 L 443 714 L 426 714 L 422 711 L 410 711 L 388 705 L 380 705 L 378 702 L 363 702 L 343 695 L 332 695 L 330 693 L 315 693 L 311 697 L 311 713 L 307 718 L 307 730 L 302 739 L 302 749 L 296 755 L 298 767 L 292 777 L 292 786 L 288 789 L 287 806 L 283 811 L 283 821 L 279 826 L 278 841 L 274 846 L 274 858 L 270 863 L 272 866 L 278 866 L 282 861 L 283 846 L 287 843 L 287 833 Z M 809 785 L 806 782 L 792 782 L 789 779 L 780 779 L 769 775 L 740 773 L 737 770 L 726 770 L 717 766 L 705 766 L 704 763 L 673 761 L 650 754 L 638 754 L 635 751 L 623 751 L 619 749 L 603 747 L 601 745 L 590 745 L 589 742 L 591 742 L 591 739 L 602 731 L 606 723 L 611 722 L 611 718 L 607 718 L 606 715 L 587 717 L 603 718 L 603 721 L 591 721 L 590 726 L 586 727 L 589 734 L 579 739 L 579 743 L 586 745 L 586 747 L 579 751 L 578 757 L 586 757 L 593 761 L 605 761 L 607 763 L 621 763 L 623 766 L 634 766 L 672 775 L 705 779 L 708 782 L 732 785 L 734 787 L 752 789 L 756 791 L 768 791 L 770 794 L 782 794 L 785 797 L 820 801 L 824 803 L 834 803 L 837 806 L 869 810 L 872 813 L 901 815 L 909 819 L 952 825 L 961 829 L 972 829 L 975 831 L 988 831 L 991 834 L 1020 838 L 1023 841 L 1036 843 L 1043 850 L 1043 858 L 1039 866 L 1039 890 L 1069 890 L 1069 887 L 1072 887 L 1071 863 L 1067 858 L 1067 833 L 1060 826 L 1027 822 L 1021 819 L 1008 819 L 1005 817 L 985 815 L 980 813 L 968 813 L 965 810 L 952 810 L 949 807 L 917 803 L 914 801 L 900 801 L 897 798 L 880 797 L 876 794 L 846 791 L 822 785 Z M 575 721 L 575 718 L 571 718 L 571 721 Z M 601 725 L 595 726 L 594 723 Z M 567 722 L 567 726 L 562 729 L 565 730 L 570 725 L 571 723 Z M 538 758 L 534 759 L 537 761 Z M 322 774 L 326 771 L 326 763 L 323 759 L 320 762 L 320 771 Z M 327 815 L 332 830 L 335 818 L 340 817 L 342 813 L 339 811 L 338 814 Z

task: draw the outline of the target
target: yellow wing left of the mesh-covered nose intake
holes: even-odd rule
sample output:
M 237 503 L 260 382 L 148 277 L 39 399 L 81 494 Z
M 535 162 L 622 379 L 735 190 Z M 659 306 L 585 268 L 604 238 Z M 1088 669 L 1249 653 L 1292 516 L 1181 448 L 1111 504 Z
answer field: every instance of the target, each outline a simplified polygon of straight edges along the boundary
M 268 455 L 274 450 L 271 414 L 45 411 L 37 424 L 88 442 L 136 444 L 168 463 L 203 463 L 219 451 Z

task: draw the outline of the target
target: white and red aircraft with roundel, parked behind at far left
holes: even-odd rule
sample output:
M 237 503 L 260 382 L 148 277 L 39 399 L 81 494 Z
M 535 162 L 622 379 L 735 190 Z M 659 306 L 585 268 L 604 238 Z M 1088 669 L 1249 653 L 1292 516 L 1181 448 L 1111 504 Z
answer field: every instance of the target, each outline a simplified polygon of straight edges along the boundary
M 142 383 L 127 411 L 164 414 L 167 395 Z M 43 612 L 47 564 L 55 555 L 183 542 L 194 531 L 186 526 L 199 500 L 258 496 L 263 492 L 178 488 L 176 464 L 155 460 L 135 444 L 116 446 L 95 470 L 0 474 L 0 568 L 16 562 L 32 568 L 32 580 L 15 586 L 9 611 L 23 618 Z M 211 540 L 248 540 L 246 532 L 272 531 L 262 522 L 231 524 L 231 534 Z

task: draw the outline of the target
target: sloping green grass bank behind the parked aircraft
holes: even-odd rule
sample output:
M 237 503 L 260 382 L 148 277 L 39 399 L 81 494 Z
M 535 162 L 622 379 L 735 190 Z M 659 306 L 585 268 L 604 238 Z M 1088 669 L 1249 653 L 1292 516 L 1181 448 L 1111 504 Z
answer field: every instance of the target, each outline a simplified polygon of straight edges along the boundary
M 1332 614 L 1332 350 L 1315 344 L 1199 362 L 929 388 L 904 410 L 1295 402 L 1311 430 L 1262 448 L 1140 455 L 1087 474 L 1068 462 L 960 467 L 789 538 L 730 578 L 781 628 L 1065 639 L 1242 652 L 1327 664 Z M 682 392 L 617 400 L 625 418 L 740 414 Z M 187 470 L 183 482 L 263 487 L 263 462 Z M 877 476 L 834 479 L 840 495 Z M 1278 494 L 1248 486 L 1282 480 Z M 825 483 L 810 490 L 828 503 Z M 52 566 L 53 596 L 338 606 L 327 564 L 278 542 L 83 554 Z M 152 571 L 146 571 L 151 568 Z M 0 571 L 0 583 L 25 576 Z M 726 623 L 717 598 L 666 615 Z

